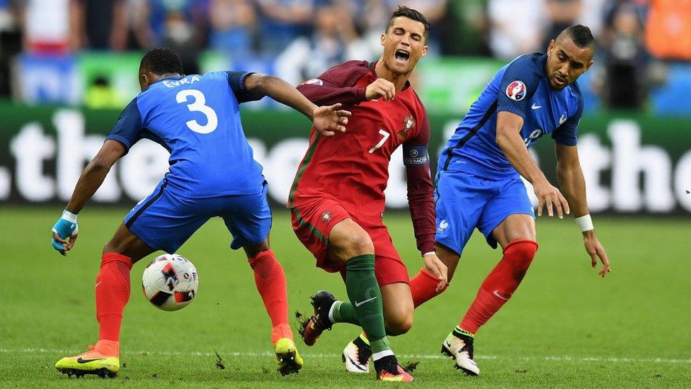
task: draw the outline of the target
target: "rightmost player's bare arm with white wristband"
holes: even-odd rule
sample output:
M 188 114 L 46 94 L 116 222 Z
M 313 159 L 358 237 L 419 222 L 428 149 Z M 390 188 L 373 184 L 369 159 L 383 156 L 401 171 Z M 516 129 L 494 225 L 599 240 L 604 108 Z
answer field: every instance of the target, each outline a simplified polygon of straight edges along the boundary
M 576 146 L 562 145 L 556 142 L 556 177 L 564 192 L 566 200 L 573 209 L 573 217 L 579 221 L 583 232 L 583 244 L 590 255 L 593 267 L 598 264 L 598 258 L 603 264 L 600 276 L 606 276 L 610 270 L 610 261 L 607 259 L 605 248 L 595 235 L 593 222 L 588 214 L 586 201 L 586 179 L 583 178 L 581 162 L 578 160 L 578 148 Z

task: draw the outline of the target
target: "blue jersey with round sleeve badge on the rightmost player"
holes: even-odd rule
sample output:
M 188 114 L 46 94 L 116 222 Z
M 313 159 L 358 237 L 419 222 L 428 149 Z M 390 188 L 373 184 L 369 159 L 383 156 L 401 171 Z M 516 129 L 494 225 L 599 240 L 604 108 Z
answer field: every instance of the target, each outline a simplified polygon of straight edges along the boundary
M 499 69 L 472 104 L 439 157 L 438 169 L 467 171 L 487 179 L 518 177 L 496 144 L 497 113 L 523 118 L 520 135 L 530 147 L 543 135 L 575 146 L 583 98 L 575 82 L 561 91 L 549 86 L 547 55 L 522 55 Z

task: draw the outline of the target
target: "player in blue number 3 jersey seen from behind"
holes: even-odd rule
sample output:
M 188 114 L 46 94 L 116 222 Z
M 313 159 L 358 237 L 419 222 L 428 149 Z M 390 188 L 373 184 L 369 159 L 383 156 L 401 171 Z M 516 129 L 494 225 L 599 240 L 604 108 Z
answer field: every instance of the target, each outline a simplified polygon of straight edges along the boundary
M 285 275 L 269 248 L 271 211 L 262 167 L 244 135 L 239 103 L 269 96 L 312 120 L 329 137 L 345 131 L 348 111 L 317 107 L 275 77 L 251 72 L 183 75 L 180 57 L 168 49 L 147 52 L 139 66 L 142 93 L 122 111 L 96 157 L 76 183 L 72 198 L 52 228 L 52 246 L 66 255 L 76 242 L 77 213 L 110 167 L 142 138 L 171 153 L 170 168 L 140 201 L 103 248 L 96 277 L 99 340 L 55 367 L 81 376 L 115 376 L 120 370 L 120 324 L 130 298 L 132 264 L 157 250 L 175 252 L 207 220 L 219 216 L 233 236 L 230 247 L 246 252 L 256 286 L 271 318 L 278 370 L 302 367 L 287 317 Z

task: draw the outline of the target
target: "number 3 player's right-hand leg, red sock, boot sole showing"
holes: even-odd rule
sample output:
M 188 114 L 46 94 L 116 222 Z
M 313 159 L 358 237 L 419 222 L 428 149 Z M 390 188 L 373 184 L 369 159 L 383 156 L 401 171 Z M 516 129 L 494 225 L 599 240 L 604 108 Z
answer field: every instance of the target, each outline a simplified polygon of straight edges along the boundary
M 298 373 L 304 362 L 288 324 L 288 298 L 285 274 L 278 259 L 269 247 L 269 237 L 264 242 L 243 247 L 249 265 L 254 271 L 254 282 L 271 318 L 271 342 L 275 349 L 278 371 L 282 376 Z

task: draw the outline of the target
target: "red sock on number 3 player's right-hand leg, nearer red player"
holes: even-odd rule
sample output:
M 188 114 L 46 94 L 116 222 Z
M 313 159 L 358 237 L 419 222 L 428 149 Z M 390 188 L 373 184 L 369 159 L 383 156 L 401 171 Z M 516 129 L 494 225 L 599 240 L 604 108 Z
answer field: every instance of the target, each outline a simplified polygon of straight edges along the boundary
M 276 260 L 273 250 L 266 250 L 249 259 L 249 266 L 254 270 L 254 282 L 257 291 L 264 301 L 266 312 L 271 318 L 273 329 L 272 342 L 287 337 L 292 338 L 292 330 L 288 325 L 288 298 L 285 291 L 285 274 Z

